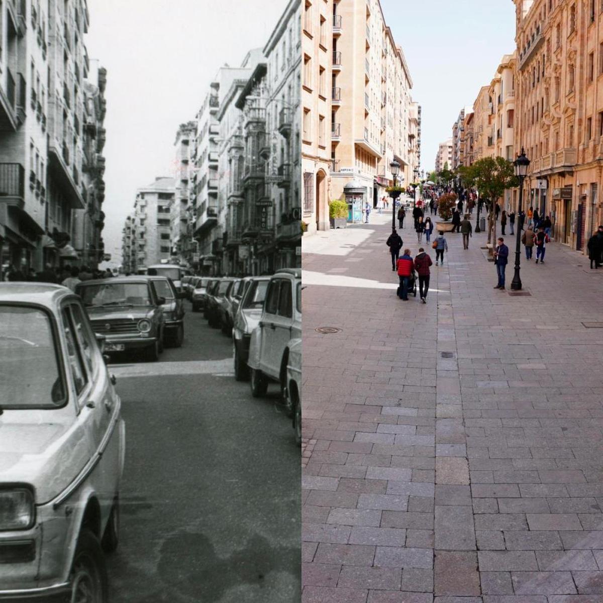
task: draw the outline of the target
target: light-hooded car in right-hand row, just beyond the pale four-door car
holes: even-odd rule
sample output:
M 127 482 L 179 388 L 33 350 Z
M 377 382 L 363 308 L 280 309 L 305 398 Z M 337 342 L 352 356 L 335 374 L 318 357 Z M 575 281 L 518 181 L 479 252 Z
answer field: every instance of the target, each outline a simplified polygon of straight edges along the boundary
M 243 381 L 248 377 L 247 359 L 249 357 L 251 333 L 253 333 L 262 317 L 262 308 L 264 308 L 270 277 L 252 276 L 245 277 L 244 280 L 248 282 L 247 290 L 239 304 L 232 329 L 235 379 L 238 381 Z

